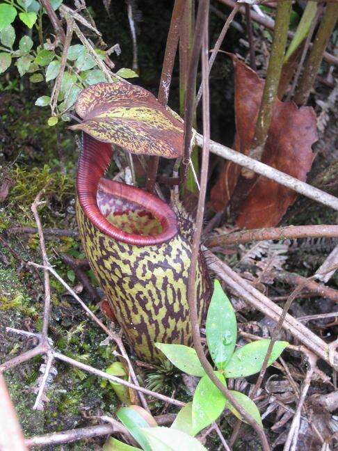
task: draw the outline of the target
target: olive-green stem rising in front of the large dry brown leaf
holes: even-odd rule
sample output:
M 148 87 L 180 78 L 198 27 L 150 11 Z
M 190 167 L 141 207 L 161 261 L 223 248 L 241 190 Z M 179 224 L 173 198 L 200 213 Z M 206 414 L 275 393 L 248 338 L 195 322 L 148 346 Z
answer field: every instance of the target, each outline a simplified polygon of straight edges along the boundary
M 275 19 L 275 32 L 273 33 L 273 44 L 270 59 L 268 61 L 268 72 L 264 84 L 263 97 L 259 108 L 255 136 L 252 142 L 250 156 L 260 160 L 263 152 L 268 129 L 271 125 L 273 105 L 277 97 L 278 84 L 284 60 L 285 47 L 287 45 L 287 32 L 291 16 L 291 1 L 278 3 Z

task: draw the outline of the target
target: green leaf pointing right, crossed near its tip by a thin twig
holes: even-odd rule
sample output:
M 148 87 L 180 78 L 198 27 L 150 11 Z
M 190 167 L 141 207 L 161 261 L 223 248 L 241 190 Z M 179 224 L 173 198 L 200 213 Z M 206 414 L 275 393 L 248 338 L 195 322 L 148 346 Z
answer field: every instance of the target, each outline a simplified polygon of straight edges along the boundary
M 236 349 L 225 367 L 225 377 L 246 377 L 259 372 L 268 351 L 269 343 L 270 340 L 257 340 L 248 343 L 248 345 L 240 349 Z M 271 356 L 268 359 L 268 365 L 271 365 L 288 345 L 288 342 L 275 342 Z

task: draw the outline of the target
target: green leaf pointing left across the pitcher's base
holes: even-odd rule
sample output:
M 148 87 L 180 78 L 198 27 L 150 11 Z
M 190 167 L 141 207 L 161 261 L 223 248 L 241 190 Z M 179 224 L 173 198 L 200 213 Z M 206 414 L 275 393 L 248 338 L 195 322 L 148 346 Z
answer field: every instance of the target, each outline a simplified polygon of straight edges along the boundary
M 155 343 L 157 349 L 170 360 L 170 362 L 192 376 L 204 376 L 205 371 L 198 359 L 195 349 L 184 345 L 165 345 L 164 343 Z

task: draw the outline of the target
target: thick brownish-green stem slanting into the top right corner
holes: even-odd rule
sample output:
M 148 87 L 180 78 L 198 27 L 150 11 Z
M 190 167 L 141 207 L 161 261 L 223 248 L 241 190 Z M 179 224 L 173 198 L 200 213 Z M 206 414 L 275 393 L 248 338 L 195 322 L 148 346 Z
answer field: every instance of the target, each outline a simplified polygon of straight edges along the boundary
M 330 35 L 335 28 L 337 17 L 338 3 L 328 3 L 325 8 L 323 19 L 321 20 L 321 25 L 316 33 L 316 38 L 314 38 L 314 45 L 312 46 L 311 52 L 305 63 L 305 68 L 296 90 L 296 95 L 293 99 L 298 105 L 304 105 L 307 102 L 309 93 L 314 85 L 314 80 L 318 74 L 321 61 L 323 60 L 323 53 L 330 40 Z

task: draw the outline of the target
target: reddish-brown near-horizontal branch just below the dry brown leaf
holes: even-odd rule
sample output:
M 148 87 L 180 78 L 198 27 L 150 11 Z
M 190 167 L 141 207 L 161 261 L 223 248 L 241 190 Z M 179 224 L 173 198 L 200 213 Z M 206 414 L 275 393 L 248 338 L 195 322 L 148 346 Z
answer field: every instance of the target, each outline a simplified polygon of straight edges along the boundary
M 286 227 L 241 230 L 227 235 L 216 235 L 207 239 L 206 245 L 226 246 L 228 244 L 264 241 L 268 239 L 296 239 L 308 237 L 338 237 L 338 225 L 287 225 Z

